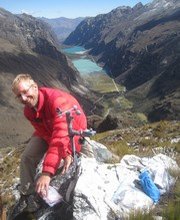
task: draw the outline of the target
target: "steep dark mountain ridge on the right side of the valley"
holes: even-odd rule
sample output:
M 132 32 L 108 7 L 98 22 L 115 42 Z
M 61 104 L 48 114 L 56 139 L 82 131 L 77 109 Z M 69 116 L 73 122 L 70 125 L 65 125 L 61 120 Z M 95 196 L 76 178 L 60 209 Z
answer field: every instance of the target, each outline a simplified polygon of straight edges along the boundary
M 180 119 L 179 40 L 180 2 L 154 0 L 87 18 L 64 43 L 90 49 L 99 64 L 126 86 L 134 110 L 154 121 Z

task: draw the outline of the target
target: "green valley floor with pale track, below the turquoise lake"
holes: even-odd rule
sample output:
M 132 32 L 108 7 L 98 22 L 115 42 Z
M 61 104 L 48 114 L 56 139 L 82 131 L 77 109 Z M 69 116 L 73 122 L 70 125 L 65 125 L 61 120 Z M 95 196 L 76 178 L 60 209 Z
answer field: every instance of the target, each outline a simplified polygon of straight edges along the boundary
M 111 114 L 122 121 L 123 127 L 129 125 L 141 126 L 147 123 L 147 118 L 143 113 L 132 112 L 133 103 L 125 96 L 125 87 L 115 83 L 115 81 L 104 73 L 89 74 L 84 76 L 88 88 L 97 95 L 95 104 L 103 106 L 102 117 Z

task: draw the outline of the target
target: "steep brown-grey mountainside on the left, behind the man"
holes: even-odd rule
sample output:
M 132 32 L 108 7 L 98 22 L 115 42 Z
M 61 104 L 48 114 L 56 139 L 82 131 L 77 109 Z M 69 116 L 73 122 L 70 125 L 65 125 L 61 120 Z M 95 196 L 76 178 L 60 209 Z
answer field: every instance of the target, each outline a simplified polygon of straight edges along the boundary
M 94 107 L 79 73 L 59 50 L 47 24 L 32 16 L 13 15 L 0 8 L 0 147 L 27 141 L 32 128 L 14 99 L 11 83 L 19 73 L 30 73 L 40 85 L 73 93 L 88 110 Z

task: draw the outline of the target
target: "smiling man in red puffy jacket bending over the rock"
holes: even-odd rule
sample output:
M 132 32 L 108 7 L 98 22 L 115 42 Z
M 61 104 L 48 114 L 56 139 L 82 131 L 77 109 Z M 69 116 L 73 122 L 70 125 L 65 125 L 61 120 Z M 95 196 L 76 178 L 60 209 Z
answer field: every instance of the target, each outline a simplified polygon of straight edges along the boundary
M 75 130 L 87 128 L 86 116 L 72 95 L 59 89 L 38 87 L 29 74 L 17 75 L 12 91 L 24 105 L 24 115 L 35 129 L 21 157 L 20 192 L 23 195 L 29 195 L 34 190 L 38 194 L 47 193 L 60 161 L 64 160 L 62 173 L 67 172 L 73 161 L 66 116 L 58 115 L 57 111 L 67 111 L 77 106 L 81 114 L 72 113 Z M 79 152 L 79 136 L 75 136 L 74 140 Z M 42 174 L 35 181 L 36 168 L 44 154 Z

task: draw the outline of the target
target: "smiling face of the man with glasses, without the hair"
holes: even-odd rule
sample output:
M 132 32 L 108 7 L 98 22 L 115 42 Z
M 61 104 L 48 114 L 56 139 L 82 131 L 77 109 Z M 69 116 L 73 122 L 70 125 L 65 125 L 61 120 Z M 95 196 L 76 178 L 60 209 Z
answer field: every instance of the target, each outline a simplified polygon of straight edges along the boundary
M 36 107 L 38 103 L 38 87 L 29 81 L 21 81 L 16 91 L 16 98 L 23 104 L 29 107 Z

